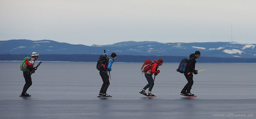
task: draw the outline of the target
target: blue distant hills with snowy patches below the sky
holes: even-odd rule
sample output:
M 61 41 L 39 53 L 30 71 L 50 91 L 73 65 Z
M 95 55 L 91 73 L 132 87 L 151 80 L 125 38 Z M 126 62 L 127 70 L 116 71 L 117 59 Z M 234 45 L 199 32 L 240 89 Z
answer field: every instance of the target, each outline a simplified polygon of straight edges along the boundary
M 107 54 L 134 56 L 189 56 L 196 50 L 201 57 L 223 58 L 256 58 L 256 44 L 236 42 L 193 42 L 193 43 L 160 43 L 154 41 L 126 41 L 112 45 L 72 45 L 51 40 L 8 40 L 0 41 L 0 54 Z

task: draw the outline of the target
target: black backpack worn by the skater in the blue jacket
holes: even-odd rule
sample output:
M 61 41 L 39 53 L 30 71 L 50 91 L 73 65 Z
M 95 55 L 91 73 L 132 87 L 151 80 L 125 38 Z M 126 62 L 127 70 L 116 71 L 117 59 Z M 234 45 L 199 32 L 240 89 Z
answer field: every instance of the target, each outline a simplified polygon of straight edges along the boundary
M 100 56 L 100 58 L 98 59 L 97 65 L 96 65 L 96 69 L 99 71 L 107 71 L 108 68 L 108 63 L 110 61 L 110 58 L 107 58 L 103 55 Z M 105 65 L 105 68 L 104 68 Z

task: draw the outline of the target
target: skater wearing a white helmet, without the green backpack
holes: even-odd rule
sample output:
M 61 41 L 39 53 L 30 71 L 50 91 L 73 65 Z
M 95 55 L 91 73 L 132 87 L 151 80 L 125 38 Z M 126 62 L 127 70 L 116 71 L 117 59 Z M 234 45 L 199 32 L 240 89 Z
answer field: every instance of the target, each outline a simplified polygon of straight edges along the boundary
M 32 56 L 32 58 L 30 59 L 30 61 L 25 62 L 27 64 L 27 70 L 23 71 L 23 77 L 25 78 L 26 83 L 23 87 L 21 96 L 29 96 L 29 94 L 27 93 L 27 90 L 32 85 L 30 71 L 37 70 L 37 68 L 34 67 L 34 64 L 35 64 L 35 60 L 37 60 L 39 54 L 36 52 L 33 52 L 31 56 Z

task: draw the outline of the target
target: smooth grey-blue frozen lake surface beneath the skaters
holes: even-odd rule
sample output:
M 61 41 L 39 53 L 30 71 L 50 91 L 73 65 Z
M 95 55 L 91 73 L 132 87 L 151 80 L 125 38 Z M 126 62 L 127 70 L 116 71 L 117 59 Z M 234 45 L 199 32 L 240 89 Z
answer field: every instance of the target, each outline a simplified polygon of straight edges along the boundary
M 0 62 L 0 118 L 256 116 L 255 63 L 196 63 L 196 70 L 207 69 L 194 75 L 191 93 L 196 98 L 180 95 L 187 80 L 176 72 L 179 63 L 159 67 L 160 74 L 152 89 L 156 98 L 141 95 L 140 90 L 147 84 L 141 65 L 114 62 L 107 91 L 113 98 L 103 99 L 97 97 L 102 79 L 96 63 L 43 62 L 32 74 L 33 83 L 27 91 L 32 96 L 19 97 L 25 84 L 20 63 Z

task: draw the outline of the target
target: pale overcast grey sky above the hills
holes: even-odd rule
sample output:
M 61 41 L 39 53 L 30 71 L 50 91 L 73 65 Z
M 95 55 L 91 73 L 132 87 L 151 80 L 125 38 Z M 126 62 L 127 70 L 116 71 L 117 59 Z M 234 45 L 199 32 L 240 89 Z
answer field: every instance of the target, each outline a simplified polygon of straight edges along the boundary
M 0 41 L 256 43 L 255 0 L 0 0 Z M 232 34 L 232 35 L 231 35 Z

